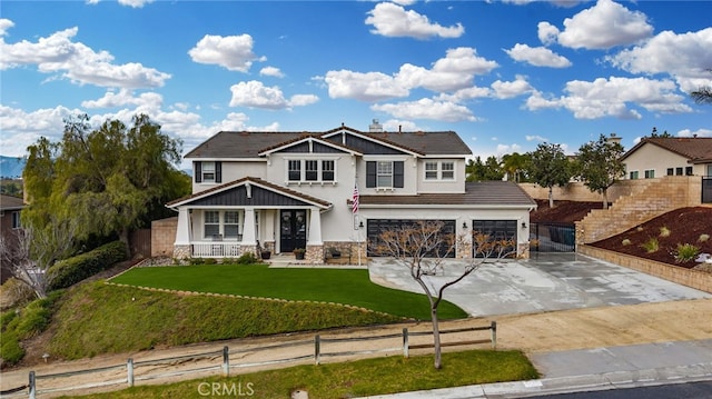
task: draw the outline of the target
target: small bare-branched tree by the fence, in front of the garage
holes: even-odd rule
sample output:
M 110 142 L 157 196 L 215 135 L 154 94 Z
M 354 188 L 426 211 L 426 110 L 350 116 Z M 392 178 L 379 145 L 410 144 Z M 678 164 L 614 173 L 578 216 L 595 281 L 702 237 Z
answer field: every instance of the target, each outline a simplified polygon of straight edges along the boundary
M 431 306 L 436 369 L 442 367 L 437 307 L 443 301 L 445 290 L 477 270 L 486 260 L 516 255 L 516 242 L 513 239 L 495 240 L 486 233 L 473 231 L 469 241 L 466 235 L 456 237 L 454 232 L 447 232 L 443 228 L 444 223 L 439 221 L 417 221 L 412 226 L 383 231 L 377 241 L 372 242 L 376 253 L 393 257 L 397 262 L 408 267 L 411 277 L 425 292 Z M 444 275 L 445 260 L 455 253 L 458 246 L 468 249 L 469 242 L 474 257 L 462 260 L 463 268 L 457 270 L 456 277 L 439 288 L 432 285 L 428 277 L 438 272 Z

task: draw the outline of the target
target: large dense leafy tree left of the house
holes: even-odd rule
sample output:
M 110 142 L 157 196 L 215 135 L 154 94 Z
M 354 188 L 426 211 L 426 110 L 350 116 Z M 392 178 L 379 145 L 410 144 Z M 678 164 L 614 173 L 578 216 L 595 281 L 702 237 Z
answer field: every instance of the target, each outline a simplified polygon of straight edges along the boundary
M 36 230 L 55 217 L 75 221 L 78 240 L 116 236 L 128 243 L 131 229 L 190 190 L 189 177 L 174 167 L 180 141 L 145 114 L 131 127 L 107 120 L 95 130 L 88 116 L 70 118 L 60 142 L 41 138 L 28 151 L 22 220 Z

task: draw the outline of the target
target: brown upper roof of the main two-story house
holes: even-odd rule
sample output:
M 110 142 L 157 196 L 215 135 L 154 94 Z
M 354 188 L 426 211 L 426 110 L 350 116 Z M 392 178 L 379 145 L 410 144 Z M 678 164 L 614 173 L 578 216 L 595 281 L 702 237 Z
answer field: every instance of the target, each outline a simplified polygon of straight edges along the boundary
M 259 152 L 305 137 L 328 136 L 340 130 L 350 131 L 376 141 L 400 147 L 422 154 L 467 156 L 469 147 L 454 131 L 432 132 L 363 132 L 340 127 L 325 132 L 247 132 L 220 131 L 189 151 L 185 158 L 258 158 Z

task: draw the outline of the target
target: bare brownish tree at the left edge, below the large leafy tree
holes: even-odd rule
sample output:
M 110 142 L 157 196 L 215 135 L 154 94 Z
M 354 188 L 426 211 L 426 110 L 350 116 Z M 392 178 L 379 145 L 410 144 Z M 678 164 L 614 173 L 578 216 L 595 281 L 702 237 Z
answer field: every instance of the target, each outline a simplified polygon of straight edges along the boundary
M 30 287 L 38 298 L 47 298 L 47 270 L 70 255 L 75 229 L 73 223 L 52 218 L 44 229 L 29 227 L 14 230 L 10 237 L 2 235 L 0 260 L 11 265 L 12 277 Z

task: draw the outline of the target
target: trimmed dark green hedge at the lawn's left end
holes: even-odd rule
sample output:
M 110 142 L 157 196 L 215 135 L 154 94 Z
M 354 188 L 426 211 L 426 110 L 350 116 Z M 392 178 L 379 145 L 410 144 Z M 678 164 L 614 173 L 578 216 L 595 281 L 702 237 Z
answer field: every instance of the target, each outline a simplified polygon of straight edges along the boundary
M 48 290 L 71 287 L 127 259 L 128 253 L 123 242 L 113 241 L 89 252 L 61 260 L 47 270 Z

